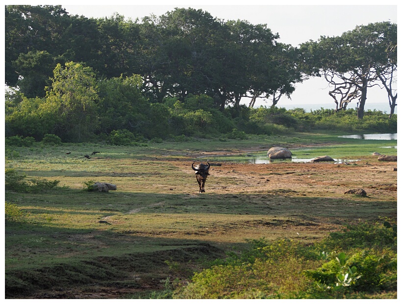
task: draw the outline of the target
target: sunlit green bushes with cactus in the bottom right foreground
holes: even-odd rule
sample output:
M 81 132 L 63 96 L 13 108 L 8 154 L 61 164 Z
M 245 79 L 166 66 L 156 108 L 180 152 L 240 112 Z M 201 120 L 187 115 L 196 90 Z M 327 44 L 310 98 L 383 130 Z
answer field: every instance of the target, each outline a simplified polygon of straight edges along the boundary
M 348 226 L 308 247 L 288 239 L 250 241 L 249 250 L 216 261 L 172 297 L 342 299 L 396 291 L 396 229 L 386 223 Z

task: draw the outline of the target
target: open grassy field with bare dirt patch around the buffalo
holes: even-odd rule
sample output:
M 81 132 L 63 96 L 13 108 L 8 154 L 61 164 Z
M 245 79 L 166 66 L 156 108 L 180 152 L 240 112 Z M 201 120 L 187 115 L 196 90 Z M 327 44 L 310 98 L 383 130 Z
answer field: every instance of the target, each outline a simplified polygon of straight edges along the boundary
M 274 145 L 301 158 L 358 161 L 248 163 Z M 246 248 L 247 239 L 312 244 L 346 223 L 396 220 L 396 163 L 371 155 L 396 155 L 395 146 L 396 140 L 297 134 L 8 147 L 6 169 L 59 184 L 37 193 L 5 191 L 5 201 L 23 211 L 5 225 L 6 298 L 147 298 L 167 278 L 189 278 L 227 250 Z M 100 153 L 83 157 L 93 151 Z M 198 193 L 194 161 L 211 163 L 206 193 Z M 90 181 L 117 190 L 85 191 Z M 368 196 L 346 196 L 351 188 Z

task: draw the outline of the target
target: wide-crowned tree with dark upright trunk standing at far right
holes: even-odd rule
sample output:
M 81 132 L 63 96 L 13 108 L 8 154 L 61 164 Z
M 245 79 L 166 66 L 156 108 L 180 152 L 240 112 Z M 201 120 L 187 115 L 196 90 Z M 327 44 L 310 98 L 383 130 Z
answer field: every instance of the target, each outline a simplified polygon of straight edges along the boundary
M 327 79 L 338 78 L 339 85 L 358 88 L 357 117 L 360 119 L 364 116 L 367 89 L 376 85 L 379 71 L 389 67 L 388 42 L 391 40 L 396 46 L 396 26 L 392 27 L 395 35 L 391 35 L 389 25 L 388 22 L 360 25 L 341 36 L 322 36 L 318 42 L 301 45 L 307 73 L 325 74 Z

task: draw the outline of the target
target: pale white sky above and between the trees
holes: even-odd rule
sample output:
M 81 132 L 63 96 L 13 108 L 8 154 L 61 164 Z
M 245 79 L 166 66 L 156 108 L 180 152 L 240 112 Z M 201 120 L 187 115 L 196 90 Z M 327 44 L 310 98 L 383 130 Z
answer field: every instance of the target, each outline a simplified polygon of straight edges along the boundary
M 24 2 L 24 1 L 23 1 Z M 30 5 L 38 5 L 29 3 Z M 135 1 L 132 1 L 135 3 Z M 139 1 L 137 1 L 139 2 Z M 231 4 L 223 4 L 227 1 L 204 0 L 199 1 L 153 1 L 153 5 L 124 5 L 127 1 L 116 0 L 114 5 L 101 5 L 105 1 L 68 1 L 68 5 L 61 4 L 70 15 L 83 15 L 91 18 L 110 17 L 114 12 L 135 20 L 154 14 L 160 16 L 175 7 L 201 8 L 210 13 L 213 17 L 223 20 L 247 20 L 251 24 L 267 24 L 274 32 L 280 35 L 280 42 L 298 46 L 308 40 L 325 36 L 339 36 L 345 31 L 352 30 L 356 25 L 367 25 L 369 23 L 391 21 L 397 23 L 396 1 L 382 1 L 384 5 L 361 5 L 367 1 L 338 1 L 340 5 L 316 5 L 320 1 L 303 1 L 305 5 L 295 5 L 297 1 L 282 0 L 283 5 L 269 5 L 273 1 L 230 1 Z M 276 3 L 278 1 L 275 1 Z M 35 2 L 36 3 L 36 2 Z M 60 2 L 59 2 L 60 3 Z M 95 4 L 94 4 L 95 3 Z M 108 3 L 110 3 L 108 1 Z M 143 3 L 141 1 L 141 3 Z M 195 3 L 195 4 L 193 4 Z M 213 3 L 213 4 L 210 4 Z M 266 5 L 261 5 L 264 3 Z M 299 2 L 300 3 L 300 2 Z M 345 4 L 346 3 L 346 4 Z M 49 1 L 42 1 L 43 4 L 57 4 Z M 250 100 L 243 98 L 242 103 L 248 104 Z M 385 90 L 378 87 L 370 88 L 368 91 L 366 104 L 370 102 L 388 103 Z M 271 101 L 257 99 L 255 106 L 271 105 Z M 297 84 L 291 100 L 282 97 L 278 106 L 286 104 L 331 104 L 335 107 L 333 99 L 328 95 L 327 82 L 322 78 L 310 78 L 303 83 Z

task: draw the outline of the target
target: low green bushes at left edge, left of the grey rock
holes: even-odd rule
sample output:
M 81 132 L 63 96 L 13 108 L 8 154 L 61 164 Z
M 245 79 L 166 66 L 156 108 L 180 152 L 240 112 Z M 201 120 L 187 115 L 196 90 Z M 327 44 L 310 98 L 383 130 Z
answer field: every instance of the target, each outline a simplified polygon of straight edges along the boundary
M 53 189 L 60 183 L 59 180 L 47 180 L 45 178 L 26 179 L 26 174 L 19 174 L 14 169 L 5 169 L 5 190 L 16 192 L 37 193 L 43 190 Z

